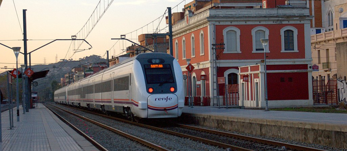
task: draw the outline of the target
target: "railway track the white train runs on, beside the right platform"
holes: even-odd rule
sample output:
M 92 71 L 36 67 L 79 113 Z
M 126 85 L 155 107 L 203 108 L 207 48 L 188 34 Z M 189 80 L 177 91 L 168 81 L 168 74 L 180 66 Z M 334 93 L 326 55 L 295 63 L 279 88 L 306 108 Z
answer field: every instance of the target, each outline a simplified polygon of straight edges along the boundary
M 76 108 L 73 108 L 76 109 Z M 80 110 L 80 109 L 77 109 Z M 176 135 L 183 138 L 203 142 L 205 144 L 215 145 L 225 149 L 231 150 L 260 150 L 260 151 L 326 151 L 322 149 L 315 149 L 295 144 L 282 143 L 277 141 L 265 140 L 260 138 L 249 137 L 245 135 L 215 131 L 210 129 L 192 127 L 183 124 L 176 124 L 173 127 L 154 127 L 152 125 L 145 125 L 141 123 L 131 122 L 124 119 L 110 117 L 107 115 L 94 113 L 90 111 L 81 110 L 84 112 L 97 114 L 113 120 L 131 123 L 155 131 Z

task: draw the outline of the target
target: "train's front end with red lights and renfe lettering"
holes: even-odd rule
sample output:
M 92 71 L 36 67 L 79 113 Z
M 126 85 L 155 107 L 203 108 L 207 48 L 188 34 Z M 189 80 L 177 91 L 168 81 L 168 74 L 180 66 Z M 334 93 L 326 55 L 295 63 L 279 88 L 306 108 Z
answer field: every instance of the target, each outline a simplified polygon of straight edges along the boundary
M 179 74 L 175 75 L 182 73 L 175 61 L 173 57 L 151 59 L 147 60 L 149 64 L 143 65 L 146 91 L 150 94 L 147 98 L 148 118 L 176 118 L 181 115 L 184 101 L 177 95 L 183 93 L 182 89 L 178 89 L 183 79 Z

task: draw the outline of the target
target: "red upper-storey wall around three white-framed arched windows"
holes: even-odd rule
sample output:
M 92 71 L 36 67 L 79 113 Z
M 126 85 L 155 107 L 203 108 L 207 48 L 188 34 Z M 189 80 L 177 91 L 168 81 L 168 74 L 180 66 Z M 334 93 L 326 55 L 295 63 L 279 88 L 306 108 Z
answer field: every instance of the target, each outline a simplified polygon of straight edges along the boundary
M 264 59 L 264 53 L 252 53 L 252 29 L 255 27 L 265 27 L 269 30 L 270 53 L 266 53 L 267 59 L 304 59 L 305 58 L 305 34 L 304 24 L 259 24 L 259 25 L 218 25 L 216 26 L 217 43 L 224 42 L 223 29 L 236 27 L 240 30 L 240 50 L 241 53 L 221 53 L 221 60 L 242 60 L 242 59 Z M 283 27 L 292 26 L 298 30 L 297 41 L 299 52 L 281 53 L 281 32 Z M 223 50 L 218 50 L 223 51 Z M 219 53 L 217 52 L 217 54 Z

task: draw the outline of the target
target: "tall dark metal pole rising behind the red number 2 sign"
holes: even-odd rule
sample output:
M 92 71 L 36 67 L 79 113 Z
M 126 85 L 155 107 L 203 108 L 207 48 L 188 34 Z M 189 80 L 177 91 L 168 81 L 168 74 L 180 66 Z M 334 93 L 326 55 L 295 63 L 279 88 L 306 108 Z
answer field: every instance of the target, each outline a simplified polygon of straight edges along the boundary
M 25 70 L 28 69 L 28 53 L 27 53 L 27 32 L 26 32 L 26 9 L 23 9 L 23 38 L 24 38 L 24 64 L 25 64 Z M 18 68 L 17 68 L 18 69 Z M 24 71 L 25 71 L 24 70 Z M 29 79 L 24 84 L 29 83 Z M 26 96 L 25 99 L 25 111 L 29 112 L 29 99 L 28 99 L 28 86 L 24 85 L 24 95 Z

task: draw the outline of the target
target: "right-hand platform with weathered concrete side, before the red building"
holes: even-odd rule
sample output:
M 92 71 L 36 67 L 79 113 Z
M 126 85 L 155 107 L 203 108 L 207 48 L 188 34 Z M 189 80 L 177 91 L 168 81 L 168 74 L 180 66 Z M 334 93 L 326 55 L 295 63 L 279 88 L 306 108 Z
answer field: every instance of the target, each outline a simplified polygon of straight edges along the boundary
M 186 106 L 181 121 L 347 149 L 347 114 Z

